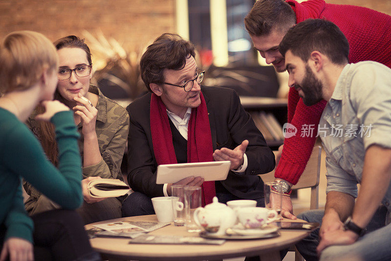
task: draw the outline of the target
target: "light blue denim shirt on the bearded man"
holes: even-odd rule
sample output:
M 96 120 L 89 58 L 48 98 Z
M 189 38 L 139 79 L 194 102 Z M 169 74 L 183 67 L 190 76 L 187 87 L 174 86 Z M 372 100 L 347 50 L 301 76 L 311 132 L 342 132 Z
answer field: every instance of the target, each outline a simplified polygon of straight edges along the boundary
M 366 149 L 391 148 L 391 70 L 377 62 L 348 64 L 319 122 L 326 151 L 327 189 L 357 197 Z M 382 182 L 378 180 L 377 182 Z M 391 221 L 391 186 L 382 204 Z

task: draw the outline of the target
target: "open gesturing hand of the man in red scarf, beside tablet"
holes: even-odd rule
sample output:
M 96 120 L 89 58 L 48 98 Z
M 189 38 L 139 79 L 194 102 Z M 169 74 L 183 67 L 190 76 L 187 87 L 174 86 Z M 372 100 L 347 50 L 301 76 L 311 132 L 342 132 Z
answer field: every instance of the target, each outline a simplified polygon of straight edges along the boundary
M 213 159 L 215 161 L 230 161 L 230 169 L 238 169 L 239 166 L 243 165 L 243 155 L 246 152 L 247 145 L 248 141 L 244 140 L 239 146 L 237 146 L 233 150 L 229 148 L 217 149 L 215 150 L 215 152 L 213 152 Z

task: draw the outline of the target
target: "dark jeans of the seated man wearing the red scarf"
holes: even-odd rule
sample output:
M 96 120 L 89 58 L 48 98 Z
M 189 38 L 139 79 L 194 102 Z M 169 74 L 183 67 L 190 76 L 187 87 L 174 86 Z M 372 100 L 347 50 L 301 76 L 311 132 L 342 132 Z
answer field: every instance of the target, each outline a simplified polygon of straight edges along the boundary
M 232 194 L 216 193 L 220 203 L 227 203 L 230 200 L 241 199 Z M 257 207 L 264 207 L 265 201 L 263 197 L 254 199 L 257 201 Z M 153 210 L 152 200 L 147 195 L 134 191 L 127 199 L 122 202 L 122 216 L 136 216 L 136 215 L 152 215 L 155 214 Z

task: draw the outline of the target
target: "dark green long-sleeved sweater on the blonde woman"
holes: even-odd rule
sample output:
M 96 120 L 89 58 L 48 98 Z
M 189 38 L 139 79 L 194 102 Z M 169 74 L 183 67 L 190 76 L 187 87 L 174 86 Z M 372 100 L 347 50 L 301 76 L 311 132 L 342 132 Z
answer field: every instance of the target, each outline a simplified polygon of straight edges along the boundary
M 79 134 L 71 111 L 52 117 L 59 149 L 57 169 L 14 114 L 0 108 L 0 122 L 0 224 L 7 228 L 4 240 L 21 237 L 32 242 L 33 222 L 24 210 L 21 178 L 63 208 L 78 208 L 83 201 Z

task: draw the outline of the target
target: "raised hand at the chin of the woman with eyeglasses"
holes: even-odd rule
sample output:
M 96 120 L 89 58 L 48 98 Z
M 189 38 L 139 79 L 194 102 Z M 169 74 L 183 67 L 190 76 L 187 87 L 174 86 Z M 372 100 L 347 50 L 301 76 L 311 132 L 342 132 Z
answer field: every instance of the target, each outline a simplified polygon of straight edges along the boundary
M 78 105 L 72 109 L 75 111 L 76 115 L 80 116 L 80 119 L 83 123 L 84 137 L 86 138 L 86 136 L 88 137 L 90 135 L 96 135 L 95 122 L 98 110 L 92 106 L 92 103 L 90 103 L 87 98 L 80 94 L 73 99 L 78 103 Z

